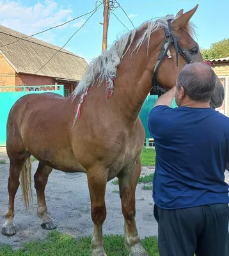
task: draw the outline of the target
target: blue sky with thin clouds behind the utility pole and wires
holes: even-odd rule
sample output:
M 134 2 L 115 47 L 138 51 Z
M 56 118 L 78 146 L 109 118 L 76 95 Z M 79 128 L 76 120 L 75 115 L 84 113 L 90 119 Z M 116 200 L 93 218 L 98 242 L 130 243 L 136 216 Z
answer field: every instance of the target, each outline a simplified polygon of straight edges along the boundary
M 176 15 L 180 9 L 187 12 L 196 4 L 200 4 L 191 19 L 198 33 L 194 39 L 200 47 L 209 48 L 212 43 L 229 38 L 228 0 L 119 0 L 118 3 L 136 27 L 146 20 L 168 14 Z M 90 12 L 94 8 L 95 0 L 0 0 L 0 24 L 26 35 L 33 35 Z M 128 29 L 133 29 L 121 8 L 116 8 L 114 13 Z M 90 14 L 35 37 L 63 47 L 89 16 Z M 88 62 L 99 56 L 102 49 L 102 25 L 99 22 L 103 22 L 102 5 L 72 37 L 65 49 L 85 58 Z M 127 29 L 114 15 L 110 15 L 108 47 L 123 33 L 127 33 Z

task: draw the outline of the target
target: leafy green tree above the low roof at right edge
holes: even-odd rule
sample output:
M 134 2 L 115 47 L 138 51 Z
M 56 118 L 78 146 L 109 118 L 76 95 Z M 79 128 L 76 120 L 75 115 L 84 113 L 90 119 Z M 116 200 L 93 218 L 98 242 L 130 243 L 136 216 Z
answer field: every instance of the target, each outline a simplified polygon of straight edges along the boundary
M 214 60 L 229 57 L 229 38 L 210 45 L 209 49 L 201 49 L 204 60 Z

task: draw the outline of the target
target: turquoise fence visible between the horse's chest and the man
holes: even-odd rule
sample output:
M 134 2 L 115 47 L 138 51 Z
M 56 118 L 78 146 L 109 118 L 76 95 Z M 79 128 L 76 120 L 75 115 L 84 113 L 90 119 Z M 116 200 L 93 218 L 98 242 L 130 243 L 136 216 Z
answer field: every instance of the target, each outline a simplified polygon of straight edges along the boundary
M 149 145 L 149 139 L 152 139 L 152 136 L 150 136 L 150 132 L 148 131 L 148 113 L 150 113 L 150 110 L 154 108 L 157 99 L 157 95 L 148 95 L 139 113 L 139 117 L 141 118 L 141 122 L 143 122 L 145 128 L 146 146 Z M 173 100 L 171 108 L 176 107 L 177 104 L 175 100 Z

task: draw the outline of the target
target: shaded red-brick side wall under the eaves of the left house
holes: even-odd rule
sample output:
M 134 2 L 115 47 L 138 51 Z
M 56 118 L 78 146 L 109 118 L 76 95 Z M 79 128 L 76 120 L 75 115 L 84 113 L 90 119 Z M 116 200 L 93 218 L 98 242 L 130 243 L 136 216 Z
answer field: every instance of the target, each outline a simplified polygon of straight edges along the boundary
M 55 84 L 52 77 L 36 76 L 30 74 L 16 74 L 15 85 L 51 85 Z

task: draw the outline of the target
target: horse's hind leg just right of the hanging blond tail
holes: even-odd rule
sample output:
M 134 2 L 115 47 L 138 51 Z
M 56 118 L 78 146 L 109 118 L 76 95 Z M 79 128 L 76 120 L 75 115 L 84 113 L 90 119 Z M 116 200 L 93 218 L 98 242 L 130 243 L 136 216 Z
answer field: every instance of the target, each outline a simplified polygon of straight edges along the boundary
M 56 224 L 52 221 L 47 211 L 47 205 L 45 202 L 45 186 L 47 184 L 49 174 L 52 172 L 52 168 L 39 163 L 36 173 L 34 175 L 36 196 L 38 202 L 37 215 L 42 220 L 41 226 L 43 229 L 54 229 Z

